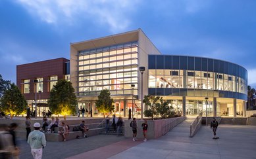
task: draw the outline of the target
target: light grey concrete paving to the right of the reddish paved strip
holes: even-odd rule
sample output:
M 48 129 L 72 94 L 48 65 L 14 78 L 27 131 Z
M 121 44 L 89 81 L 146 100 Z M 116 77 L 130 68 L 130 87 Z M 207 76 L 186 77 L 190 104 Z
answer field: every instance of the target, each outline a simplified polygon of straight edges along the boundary
M 203 126 L 195 137 L 184 133 L 182 124 L 159 139 L 149 140 L 112 156 L 117 158 L 256 158 L 256 126 L 220 125 L 218 140 L 213 140 L 209 126 Z

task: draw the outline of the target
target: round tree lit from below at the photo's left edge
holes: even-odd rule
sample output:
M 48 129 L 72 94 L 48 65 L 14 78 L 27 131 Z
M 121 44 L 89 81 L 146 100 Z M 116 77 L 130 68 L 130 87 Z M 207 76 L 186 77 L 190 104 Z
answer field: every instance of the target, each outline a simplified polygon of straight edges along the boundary
M 3 111 L 10 114 L 11 118 L 13 118 L 13 115 L 20 115 L 26 111 L 28 103 L 18 87 L 13 83 L 10 84 L 10 88 L 3 93 L 1 105 Z

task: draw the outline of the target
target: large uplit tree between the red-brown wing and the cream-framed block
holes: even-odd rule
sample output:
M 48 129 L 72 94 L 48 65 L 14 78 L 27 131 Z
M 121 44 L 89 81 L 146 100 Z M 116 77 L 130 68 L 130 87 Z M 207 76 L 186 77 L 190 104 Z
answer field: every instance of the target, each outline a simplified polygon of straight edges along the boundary
M 76 111 L 76 95 L 71 82 L 61 79 L 51 89 L 49 109 L 55 115 L 72 115 Z

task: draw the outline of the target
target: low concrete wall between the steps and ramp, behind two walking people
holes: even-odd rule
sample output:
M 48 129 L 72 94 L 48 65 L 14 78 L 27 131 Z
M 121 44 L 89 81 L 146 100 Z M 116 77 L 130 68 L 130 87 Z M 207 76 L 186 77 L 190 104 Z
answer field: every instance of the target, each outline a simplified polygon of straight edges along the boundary
M 168 119 L 162 119 L 162 120 L 147 120 L 148 128 L 147 128 L 147 138 L 148 139 L 155 139 L 157 137 L 161 137 L 163 135 L 163 126 L 169 123 L 173 123 L 174 126 L 178 125 L 180 122 L 177 121 L 183 121 L 186 117 L 178 117 L 178 118 L 168 118 Z M 130 127 L 130 122 L 132 120 L 124 120 L 124 136 L 125 137 L 132 137 L 132 128 Z M 144 120 L 136 120 L 138 130 L 137 130 L 137 137 L 139 139 L 143 139 L 143 131 L 141 124 L 144 122 Z M 172 126 L 172 127 L 174 127 Z

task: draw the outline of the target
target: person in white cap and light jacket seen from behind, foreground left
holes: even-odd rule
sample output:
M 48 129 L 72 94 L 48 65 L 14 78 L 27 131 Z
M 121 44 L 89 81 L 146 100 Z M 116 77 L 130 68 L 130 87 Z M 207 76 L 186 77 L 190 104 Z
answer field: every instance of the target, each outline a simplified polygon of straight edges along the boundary
M 34 159 L 41 159 L 43 156 L 43 147 L 46 145 L 45 134 L 40 132 L 39 122 L 35 122 L 34 131 L 28 135 L 28 144 L 31 147 L 31 153 Z

